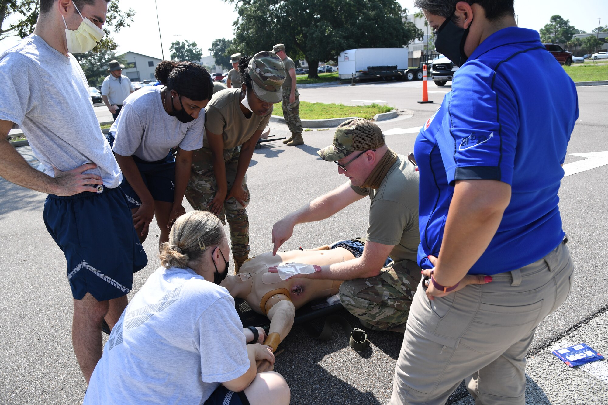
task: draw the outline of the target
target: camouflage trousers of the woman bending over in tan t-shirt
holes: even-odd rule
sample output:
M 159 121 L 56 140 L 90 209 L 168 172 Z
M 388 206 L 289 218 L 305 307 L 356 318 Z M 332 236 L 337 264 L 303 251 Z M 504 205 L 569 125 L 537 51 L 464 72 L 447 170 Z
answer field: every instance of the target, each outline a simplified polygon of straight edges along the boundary
M 226 163 L 226 181 L 228 191 L 234 184 L 237 176 L 238 157 L 241 155 L 241 147 L 224 149 L 224 162 Z M 247 176 L 243 178 L 243 189 L 247 192 L 245 205 L 241 205 L 234 197 L 224 201 L 224 207 L 218 217 L 222 224 L 230 227 L 230 241 L 232 242 L 232 254 L 242 257 L 249 254 L 249 218 L 246 207 L 249 205 L 249 189 L 247 188 Z M 195 210 L 209 211 L 209 205 L 215 197 L 218 184 L 213 173 L 213 161 L 211 150 L 201 148 L 195 150 L 192 155 L 192 171 L 190 171 L 190 182 L 186 189 L 186 199 Z

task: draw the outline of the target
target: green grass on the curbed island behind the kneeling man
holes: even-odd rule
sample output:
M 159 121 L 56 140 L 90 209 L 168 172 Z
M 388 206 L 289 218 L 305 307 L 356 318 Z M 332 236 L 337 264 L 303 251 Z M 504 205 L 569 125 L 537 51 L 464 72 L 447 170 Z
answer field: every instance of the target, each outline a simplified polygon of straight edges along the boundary
M 344 105 L 300 102 L 300 118 L 305 120 L 320 120 L 330 118 L 361 117 L 372 119 L 376 114 L 389 112 L 393 107 L 387 105 Z M 272 114 L 283 116 L 283 110 L 275 108 Z

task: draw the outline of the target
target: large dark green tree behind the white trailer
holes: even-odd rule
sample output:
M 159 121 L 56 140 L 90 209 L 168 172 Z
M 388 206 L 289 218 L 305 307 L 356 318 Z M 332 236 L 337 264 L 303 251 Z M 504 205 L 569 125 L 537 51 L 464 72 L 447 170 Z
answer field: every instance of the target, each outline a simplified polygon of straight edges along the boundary
M 309 77 L 319 61 L 353 48 L 401 47 L 424 33 L 404 22 L 395 0 L 227 0 L 235 4 L 235 39 L 243 54 L 285 44 L 294 60 L 305 58 Z

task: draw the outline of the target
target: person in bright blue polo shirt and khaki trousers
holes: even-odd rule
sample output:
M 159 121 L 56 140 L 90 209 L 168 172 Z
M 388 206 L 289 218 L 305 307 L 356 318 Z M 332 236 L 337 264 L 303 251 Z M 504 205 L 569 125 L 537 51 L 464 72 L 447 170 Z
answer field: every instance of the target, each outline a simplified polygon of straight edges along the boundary
M 573 274 L 558 190 L 575 85 L 516 26 L 513 0 L 415 5 L 461 67 L 415 142 L 424 278 L 390 404 L 444 403 L 463 379 L 475 404 L 524 404 L 526 351 Z M 462 286 L 466 274 L 491 282 Z

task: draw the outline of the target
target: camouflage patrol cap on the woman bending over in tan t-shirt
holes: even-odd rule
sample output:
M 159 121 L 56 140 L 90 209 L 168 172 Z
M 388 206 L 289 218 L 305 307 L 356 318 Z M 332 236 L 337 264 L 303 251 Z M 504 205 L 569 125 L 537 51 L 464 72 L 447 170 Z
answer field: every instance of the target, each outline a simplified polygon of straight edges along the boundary
M 269 50 L 258 52 L 249 61 L 247 73 L 258 99 L 273 104 L 283 100 L 281 85 L 285 81 L 285 65 L 277 54 Z

